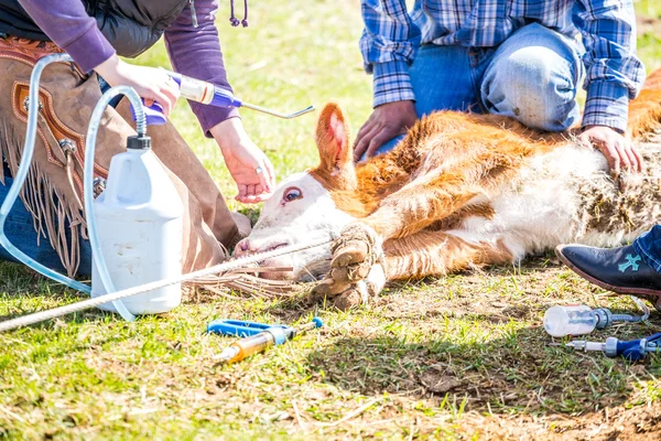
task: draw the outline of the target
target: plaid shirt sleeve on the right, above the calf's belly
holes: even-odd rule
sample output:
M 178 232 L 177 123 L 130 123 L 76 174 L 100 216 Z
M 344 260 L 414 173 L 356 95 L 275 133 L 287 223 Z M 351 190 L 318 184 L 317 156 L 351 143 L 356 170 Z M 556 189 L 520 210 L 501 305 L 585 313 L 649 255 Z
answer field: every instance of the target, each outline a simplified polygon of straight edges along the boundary
M 585 46 L 587 90 L 583 126 L 627 129 L 629 100 L 644 82 L 636 56 L 636 15 L 631 0 L 581 0 L 574 22 Z

